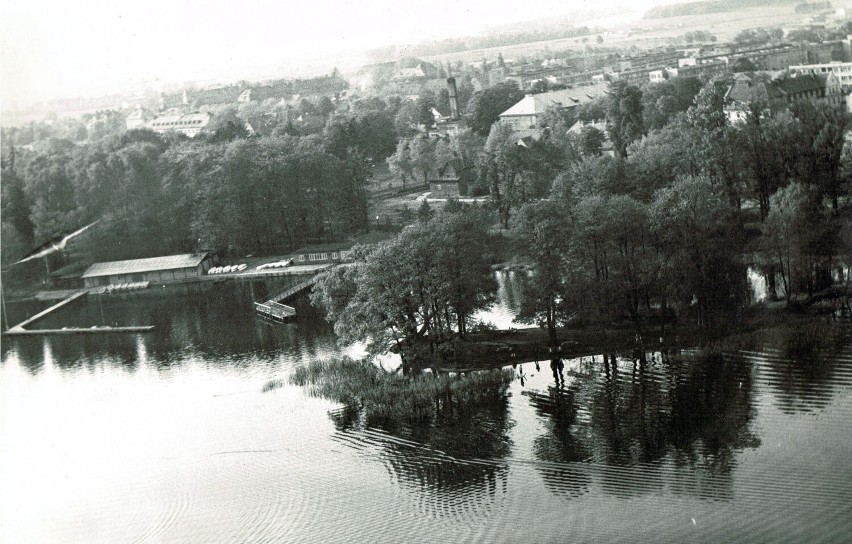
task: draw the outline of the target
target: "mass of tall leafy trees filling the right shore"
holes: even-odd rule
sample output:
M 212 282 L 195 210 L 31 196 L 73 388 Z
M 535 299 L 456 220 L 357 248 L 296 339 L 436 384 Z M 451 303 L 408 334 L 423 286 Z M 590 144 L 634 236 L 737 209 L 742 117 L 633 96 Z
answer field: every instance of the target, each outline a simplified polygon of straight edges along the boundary
M 769 114 L 755 104 L 731 125 L 724 91 L 708 82 L 685 113 L 648 130 L 643 93 L 612 86 L 617 156 L 581 156 L 547 202 L 520 207 L 515 228 L 539 270 L 527 317 L 551 326 L 560 316 L 620 317 L 641 327 L 676 310 L 709 325 L 742 308 L 748 266 L 788 301 L 830 286 L 848 266 L 845 114 L 804 102 Z

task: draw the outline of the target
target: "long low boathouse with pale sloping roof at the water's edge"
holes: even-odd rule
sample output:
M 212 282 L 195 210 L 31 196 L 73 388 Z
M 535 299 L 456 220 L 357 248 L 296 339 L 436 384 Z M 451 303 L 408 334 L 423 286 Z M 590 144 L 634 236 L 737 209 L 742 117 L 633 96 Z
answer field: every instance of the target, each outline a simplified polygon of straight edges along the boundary
M 149 259 L 95 263 L 82 276 L 86 287 L 133 282 L 175 283 L 204 276 L 212 265 L 209 253 L 187 253 Z

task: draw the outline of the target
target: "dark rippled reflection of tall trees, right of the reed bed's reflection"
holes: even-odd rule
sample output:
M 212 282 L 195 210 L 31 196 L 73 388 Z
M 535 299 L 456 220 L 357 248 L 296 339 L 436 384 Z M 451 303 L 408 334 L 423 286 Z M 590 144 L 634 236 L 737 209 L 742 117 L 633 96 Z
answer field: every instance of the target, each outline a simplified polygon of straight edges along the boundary
M 557 370 L 556 385 L 546 392 L 525 392 L 546 426 L 535 440 L 536 457 L 641 466 L 641 471 L 627 473 L 636 476 L 632 478 L 624 471 L 601 473 L 603 489 L 622 497 L 659 491 L 666 480 L 665 460 L 672 467 L 713 476 L 713 497 L 730 497 L 735 452 L 760 445 L 750 430 L 752 378 L 745 359 L 712 355 L 664 361 L 657 354 L 644 363 L 614 361 L 612 356 L 604 360 L 597 372 L 589 372 L 586 363 L 584 372 L 571 372 L 565 382 Z M 559 471 L 546 467 L 542 472 L 550 480 Z M 554 491 L 573 497 L 588 487 L 582 473 L 568 480 L 570 485 L 560 484 Z M 682 491 L 704 493 L 702 488 Z

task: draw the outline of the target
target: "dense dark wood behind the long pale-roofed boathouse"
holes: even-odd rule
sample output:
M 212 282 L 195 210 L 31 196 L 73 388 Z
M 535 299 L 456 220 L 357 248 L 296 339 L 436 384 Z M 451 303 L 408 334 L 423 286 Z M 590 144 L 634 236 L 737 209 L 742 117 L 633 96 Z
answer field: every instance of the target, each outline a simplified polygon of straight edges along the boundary
M 395 146 L 389 123 L 336 116 L 318 134 L 248 137 L 226 117 L 193 140 L 132 130 L 35 151 L 6 146 L 4 264 L 93 221 L 78 244 L 87 260 L 269 253 L 345 239 L 367 227 L 368 160 Z

